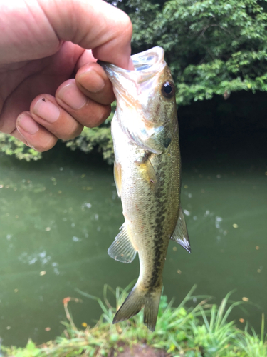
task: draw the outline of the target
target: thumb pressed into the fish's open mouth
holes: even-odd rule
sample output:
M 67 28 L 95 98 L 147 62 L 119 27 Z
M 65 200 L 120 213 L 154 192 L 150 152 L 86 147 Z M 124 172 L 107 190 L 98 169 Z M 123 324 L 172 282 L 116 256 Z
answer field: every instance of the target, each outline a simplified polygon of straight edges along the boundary
M 40 0 L 58 39 L 92 49 L 96 59 L 124 69 L 131 67 L 129 16 L 103 0 Z M 51 6 L 52 5 L 52 6 Z

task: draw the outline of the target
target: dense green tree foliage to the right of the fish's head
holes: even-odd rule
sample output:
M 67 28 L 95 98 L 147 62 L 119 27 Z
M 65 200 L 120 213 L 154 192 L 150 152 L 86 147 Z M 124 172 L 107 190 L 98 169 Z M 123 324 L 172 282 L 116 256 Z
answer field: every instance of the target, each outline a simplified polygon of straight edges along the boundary
M 118 6 L 132 19 L 135 52 L 164 48 L 177 104 L 267 91 L 266 0 L 169 0 L 163 7 L 128 0 Z

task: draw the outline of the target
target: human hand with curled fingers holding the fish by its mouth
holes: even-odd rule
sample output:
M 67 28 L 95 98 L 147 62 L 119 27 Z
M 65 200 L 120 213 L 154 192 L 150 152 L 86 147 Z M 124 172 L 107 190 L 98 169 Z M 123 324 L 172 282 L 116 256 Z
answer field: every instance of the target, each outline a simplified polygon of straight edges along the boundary
M 133 68 L 128 16 L 102 0 L 0 0 L 0 12 L 0 131 L 46 151 L 105 121 L 115 97 L 95 62 Z

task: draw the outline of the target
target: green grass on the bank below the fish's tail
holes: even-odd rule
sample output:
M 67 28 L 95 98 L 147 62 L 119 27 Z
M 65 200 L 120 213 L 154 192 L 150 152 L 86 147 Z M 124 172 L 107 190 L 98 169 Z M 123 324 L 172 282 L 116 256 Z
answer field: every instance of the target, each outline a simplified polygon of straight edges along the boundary
M 167 302 L 162 296 L 155 332 L 150 332 L 142 323 L 142 312 L 130 321 L 112 325 L 112 319 L 127 296 L 125 290 L 116 291 L 104 287 L 103 301 L 79 291 L 87 298 L 98 301 L 103 310 L 98 323 L 93 328 L 79 330 L 68 309 L 70 298 L 64 300 L 68 323 L 63 336 L 41 346 L 28 341 L 25 348 L 3 347 L 4 356 L 13 357 L 73 357 L 73 356 L 118 356 L 125 346 L 146 344 L 161 348 L 172 357 L 264 357 L 267 356 L 267 336 L 264 336 L 264 316 L 262 317 L 261 336 L 248 326 L 243 330 L 229 321 L 229 314 L 242 302 L 229 303 L 231 293 L 221 301 L 220 306 L 210 303 L 206 296 L 192 296 L 194 288 L 187 294 L 177 308 L 173 300 Z M 108 301 L 108 291 L 115 294 L 116 308 Z M 195 303 L 199 301 L 199 303 Z M 194 307 L 187 307 L 188 305 Z M 1 354 L 1 353 L 0 353 Z

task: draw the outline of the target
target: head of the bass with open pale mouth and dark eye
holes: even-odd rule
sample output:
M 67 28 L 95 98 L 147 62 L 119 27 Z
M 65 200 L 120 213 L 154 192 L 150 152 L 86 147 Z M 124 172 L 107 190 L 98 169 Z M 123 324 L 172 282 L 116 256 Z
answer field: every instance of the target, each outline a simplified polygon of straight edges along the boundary
M 132 56 L 134 71 L 101 63 L 117 99 L 116 120 L 141 149 L 162 154 L 178 130 L 175 86 L 156 46 Z

